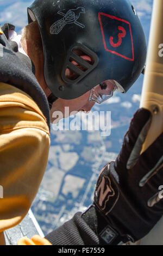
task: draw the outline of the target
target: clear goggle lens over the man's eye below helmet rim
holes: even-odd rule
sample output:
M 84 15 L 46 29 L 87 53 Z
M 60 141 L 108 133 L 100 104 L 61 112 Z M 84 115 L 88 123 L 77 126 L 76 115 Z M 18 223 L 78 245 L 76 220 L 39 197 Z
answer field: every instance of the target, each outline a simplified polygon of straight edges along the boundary
M 91 89 L 89 101 L 102 103 L 112 97 L 116 89 L 117 86 L 113 80 L 106 80 Z

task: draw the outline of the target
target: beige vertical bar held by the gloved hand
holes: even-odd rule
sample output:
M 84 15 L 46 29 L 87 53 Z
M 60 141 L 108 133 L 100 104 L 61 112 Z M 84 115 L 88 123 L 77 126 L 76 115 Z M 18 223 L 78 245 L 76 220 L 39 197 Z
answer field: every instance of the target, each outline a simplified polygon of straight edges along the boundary
M 142 152 L 151 145 L 163 131 L 163 0 L 154 0 L 149 36 L 147 65 L 143 81 L 140 107 L 151 111 L 151 129 Z M 162 45 L 161 45 L 162 44 Z M 162 57 L 161 57 L 162 56 Z

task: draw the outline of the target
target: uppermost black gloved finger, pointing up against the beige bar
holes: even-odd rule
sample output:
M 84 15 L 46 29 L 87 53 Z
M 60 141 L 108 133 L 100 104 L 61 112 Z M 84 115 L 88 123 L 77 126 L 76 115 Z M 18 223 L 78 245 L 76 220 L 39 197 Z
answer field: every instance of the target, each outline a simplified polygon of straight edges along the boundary
M 126 168 L 133 167 L 139 159 L 142 145 L 146 139 L 151 124 L 151 112 L 140 108 L 131 119 L 129 130 L 124 136 L 120 153 L 121 162 L 127 163 Z

